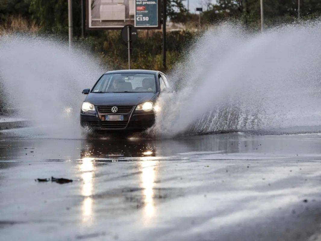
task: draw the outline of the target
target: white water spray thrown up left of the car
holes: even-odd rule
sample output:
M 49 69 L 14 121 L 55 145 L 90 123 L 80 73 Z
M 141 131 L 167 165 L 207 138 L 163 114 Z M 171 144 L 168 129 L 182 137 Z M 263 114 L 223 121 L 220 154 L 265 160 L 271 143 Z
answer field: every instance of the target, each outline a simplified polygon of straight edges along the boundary
M 55 138 L 81 136 L 81 91 L 106 71 L 85 51 L 69 51 L 59 41 L 40 37 L 0 37 L 0 79 L 7 101 L 19 117 Z

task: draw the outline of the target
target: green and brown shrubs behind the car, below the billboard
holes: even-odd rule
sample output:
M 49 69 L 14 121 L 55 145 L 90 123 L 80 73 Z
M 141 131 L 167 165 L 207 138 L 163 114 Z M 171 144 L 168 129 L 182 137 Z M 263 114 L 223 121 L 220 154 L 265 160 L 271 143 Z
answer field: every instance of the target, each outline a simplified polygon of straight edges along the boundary
M 181 54 L 194 39 L 191 31 L 167 32 L 167 67 L 180 60 Z M 127 44 L 121 39 L 120 31 L 103 31 L 98 36 L 78 38 L 78 46 L 86 46 L 111 69 L 128 68 Z M 162 32 L 158 30 L 139 30 L 138 39 L 132 44 L 131 68 L 156 69 L 164 71 L 162 60 Z

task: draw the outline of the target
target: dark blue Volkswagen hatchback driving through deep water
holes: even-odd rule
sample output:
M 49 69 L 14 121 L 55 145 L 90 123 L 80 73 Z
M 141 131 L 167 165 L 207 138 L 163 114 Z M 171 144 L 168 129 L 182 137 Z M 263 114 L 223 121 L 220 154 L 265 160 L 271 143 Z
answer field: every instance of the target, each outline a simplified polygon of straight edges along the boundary
M 155 121 L 155 102 L 161 93 L 173 93 L 167 77 L 153 70 L 117 70 L 103 74 L 80 111 L 80 124 L 100 130 L 143 130 Z

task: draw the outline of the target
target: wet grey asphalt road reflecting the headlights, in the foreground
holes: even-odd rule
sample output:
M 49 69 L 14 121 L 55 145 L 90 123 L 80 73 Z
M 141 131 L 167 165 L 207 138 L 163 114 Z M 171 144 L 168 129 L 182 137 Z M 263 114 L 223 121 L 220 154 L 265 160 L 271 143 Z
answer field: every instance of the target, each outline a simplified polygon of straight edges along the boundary
M 0 132 L 0 240 L 321 240 L 319 134 L 20 132 Z

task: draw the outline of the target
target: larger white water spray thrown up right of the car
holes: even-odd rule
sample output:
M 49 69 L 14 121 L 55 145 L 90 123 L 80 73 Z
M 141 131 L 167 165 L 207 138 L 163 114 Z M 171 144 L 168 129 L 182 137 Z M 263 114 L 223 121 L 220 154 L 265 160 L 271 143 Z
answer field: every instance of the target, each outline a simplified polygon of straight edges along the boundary
M 321 22 L 208 29 L 170 78 L 151 131 L 167 136 L 321 123 Z

